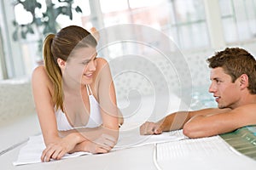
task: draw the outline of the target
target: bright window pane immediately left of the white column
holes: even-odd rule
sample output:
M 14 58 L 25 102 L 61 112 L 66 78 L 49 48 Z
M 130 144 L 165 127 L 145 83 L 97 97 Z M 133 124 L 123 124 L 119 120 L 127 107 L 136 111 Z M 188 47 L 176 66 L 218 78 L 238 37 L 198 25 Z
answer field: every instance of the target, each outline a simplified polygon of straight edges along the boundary
M 207 20 L 202 0 L 173 0 L 170 9 L 171 36 L 182 49 L 208 48 Z

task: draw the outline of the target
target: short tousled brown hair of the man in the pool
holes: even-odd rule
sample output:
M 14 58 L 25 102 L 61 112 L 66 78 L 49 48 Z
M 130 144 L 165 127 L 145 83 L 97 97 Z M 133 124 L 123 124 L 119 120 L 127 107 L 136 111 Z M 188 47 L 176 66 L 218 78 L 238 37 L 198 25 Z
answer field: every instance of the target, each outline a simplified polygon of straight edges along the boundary
M 242 74 L 248 77 L 248 90 L 256 94 L 256 61 L 252 54 L 242 48 L 225 48 L 207 59 L 210 68 L 222 67 L 224 72 L 235 82 Z

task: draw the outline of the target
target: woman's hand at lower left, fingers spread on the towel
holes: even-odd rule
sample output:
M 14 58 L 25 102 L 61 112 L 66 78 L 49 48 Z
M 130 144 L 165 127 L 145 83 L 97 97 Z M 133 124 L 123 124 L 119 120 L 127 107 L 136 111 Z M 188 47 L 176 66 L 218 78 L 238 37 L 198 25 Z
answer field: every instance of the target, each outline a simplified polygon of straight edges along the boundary
M 47 144 L 44 149 L 41 160 L 50 161 L 50 159 L 60 160 L 65 154 L 73 150 L 78 141 L 74 133 L 67 135 L 64 138 L 55 139 L 53 143 Z

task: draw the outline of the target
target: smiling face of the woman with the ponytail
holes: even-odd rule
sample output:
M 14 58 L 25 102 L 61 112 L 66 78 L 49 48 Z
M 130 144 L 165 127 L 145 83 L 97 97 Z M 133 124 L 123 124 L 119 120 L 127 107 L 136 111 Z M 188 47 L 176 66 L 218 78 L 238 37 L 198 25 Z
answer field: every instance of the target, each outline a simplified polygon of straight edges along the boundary
M 72 79 L 81 84 L 90 84 L 93 82 L 94 72 L 96 71 L 96 48 L 78 48 L 75 49 L 67 59 L 63 78 Z

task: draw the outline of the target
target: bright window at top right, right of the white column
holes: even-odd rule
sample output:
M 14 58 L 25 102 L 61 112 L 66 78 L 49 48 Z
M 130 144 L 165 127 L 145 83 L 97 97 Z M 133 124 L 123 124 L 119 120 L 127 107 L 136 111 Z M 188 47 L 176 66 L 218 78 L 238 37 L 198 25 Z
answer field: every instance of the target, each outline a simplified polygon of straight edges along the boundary
M 225 41 L 244 42 L 256 37 L 256 0 L 219 0 Z

